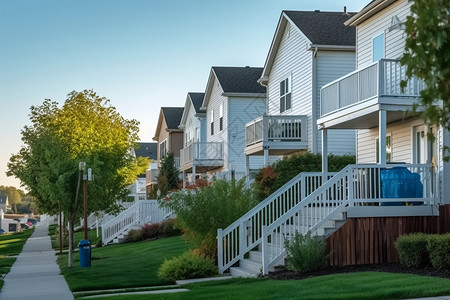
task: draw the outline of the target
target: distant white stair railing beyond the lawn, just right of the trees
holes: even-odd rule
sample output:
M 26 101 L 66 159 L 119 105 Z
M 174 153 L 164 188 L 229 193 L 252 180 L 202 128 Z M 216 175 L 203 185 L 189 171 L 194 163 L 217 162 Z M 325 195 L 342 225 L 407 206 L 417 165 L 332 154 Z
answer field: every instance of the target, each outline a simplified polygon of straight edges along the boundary
M 103 245 L 107 245 L 132 226 L 159 223 L 171 213 L 170 208 L 160 207 L 157 200 L 139 200 L 114 219 L 102 224 Z

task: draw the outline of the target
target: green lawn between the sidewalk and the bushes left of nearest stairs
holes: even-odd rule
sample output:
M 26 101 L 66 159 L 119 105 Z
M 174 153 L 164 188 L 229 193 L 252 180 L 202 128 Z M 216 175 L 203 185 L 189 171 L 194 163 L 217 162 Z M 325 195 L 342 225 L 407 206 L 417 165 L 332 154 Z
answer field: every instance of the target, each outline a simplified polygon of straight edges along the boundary
M 92 266 L 80 268 L 78 253 L 73 267 L 67 267 L 67 254 L 58 263 L 72 291 L 155 286 L 171 284 L 156 273 L 165 258 L 178 256 L 190 248 L 181 237 L 111 245 L 92 249 Z

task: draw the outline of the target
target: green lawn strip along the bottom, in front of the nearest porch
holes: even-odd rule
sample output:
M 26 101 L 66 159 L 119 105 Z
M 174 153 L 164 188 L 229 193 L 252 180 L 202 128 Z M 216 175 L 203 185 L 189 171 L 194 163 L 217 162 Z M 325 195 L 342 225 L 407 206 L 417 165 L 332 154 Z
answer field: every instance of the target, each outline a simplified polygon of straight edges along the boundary
M 450 280 L 361 272 L 303 280 L 232 279 L 186 285 L 188 292 L 102 299 L 407 299 L 450 294 Z

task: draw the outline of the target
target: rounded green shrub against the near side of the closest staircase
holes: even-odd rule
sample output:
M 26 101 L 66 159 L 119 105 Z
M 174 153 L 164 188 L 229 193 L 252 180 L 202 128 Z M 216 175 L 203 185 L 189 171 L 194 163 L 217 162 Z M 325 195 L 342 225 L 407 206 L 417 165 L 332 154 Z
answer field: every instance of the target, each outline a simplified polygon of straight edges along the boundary
M 326 243 L 318 236 L 296 233 L 292 240 L 286 240 L 287 267 L 298 273 L 320 269 L 329 257 L 326 254 Z

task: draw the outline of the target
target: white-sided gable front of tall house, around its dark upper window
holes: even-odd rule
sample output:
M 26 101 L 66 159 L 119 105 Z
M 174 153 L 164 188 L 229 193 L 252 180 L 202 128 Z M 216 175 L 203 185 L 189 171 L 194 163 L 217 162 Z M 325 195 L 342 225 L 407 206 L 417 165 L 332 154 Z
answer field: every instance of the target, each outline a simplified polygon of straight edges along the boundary
M 308 141 L 312 140 L 312 53 L 309 42 L 299 29 L 288 23 L 277 49 L 268 82 L 269 115 L 280 114 L 280 82 L 292 78 L 292 108 L 283 114 L 307 115 Z M 311 150 L 312 145 L 308 146 Z

